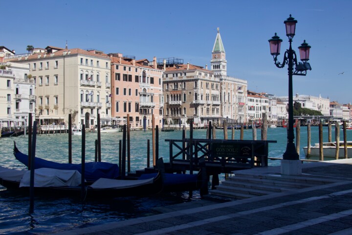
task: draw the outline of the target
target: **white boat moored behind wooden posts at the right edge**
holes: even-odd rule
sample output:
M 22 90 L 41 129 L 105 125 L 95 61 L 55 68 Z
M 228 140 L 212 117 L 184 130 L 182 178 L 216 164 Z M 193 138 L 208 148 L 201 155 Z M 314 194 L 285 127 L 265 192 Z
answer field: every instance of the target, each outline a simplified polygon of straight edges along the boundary
M 310 155 L 307 156 L 308 147 L 303 148 L 306 157 L 318 158 L 319 159 L 319 143 L 315 143 L 314 146 L 310 147 Z M 324 159 L 329 160 L 335 159 L 336 142 L 324 142 L 323 143 L 323 156 Z M 352 158 L 352 141 L 347 141 L 347 157 Z M 339 147 L 339 159 L 345 158 L 344 142 L 340 141 Z

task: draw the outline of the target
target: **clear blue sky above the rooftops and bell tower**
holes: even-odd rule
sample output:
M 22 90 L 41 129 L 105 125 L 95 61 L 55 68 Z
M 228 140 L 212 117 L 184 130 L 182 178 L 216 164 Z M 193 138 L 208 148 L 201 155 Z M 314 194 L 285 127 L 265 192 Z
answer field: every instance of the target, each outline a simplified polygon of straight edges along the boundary
M 311 46 L 311 71 L 293 76 L 293 94 L 352 102 L 351 0 L 16 0 L 1 1 L 0 46 L 94 48 L 136 59 L 176 57 L 208 65 L 220 28 L 227 75 L 248 90 L 288 95 L 287 66 L 279 69 L 268 40 L 277 33 L 288 49 L 284 21 L 298 23 L 292 48 Z

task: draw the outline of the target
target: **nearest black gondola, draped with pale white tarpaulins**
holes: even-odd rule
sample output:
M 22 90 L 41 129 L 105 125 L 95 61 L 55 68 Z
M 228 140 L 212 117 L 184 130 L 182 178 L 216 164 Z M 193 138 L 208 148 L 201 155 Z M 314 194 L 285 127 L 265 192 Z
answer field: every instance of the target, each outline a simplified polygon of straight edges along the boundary
M 82 195 L 81 174 L 77 170 L 35 170 L 34 192 L 36 196 L 74 197 Z M 29 193 L 30 171 L 9 169 L 0 166 L 0 185 L 8 190 Z M 160 173 L 146 180 L 113 180 L 100 178 L 85 184 L 85 198 L 105 199 L 126 196 L 147 196 L 162 191 Z

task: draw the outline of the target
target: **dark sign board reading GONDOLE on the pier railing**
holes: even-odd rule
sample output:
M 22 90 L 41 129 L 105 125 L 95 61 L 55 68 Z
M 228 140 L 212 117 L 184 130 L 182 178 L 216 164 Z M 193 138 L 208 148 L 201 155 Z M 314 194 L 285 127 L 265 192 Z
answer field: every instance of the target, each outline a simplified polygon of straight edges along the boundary
M 249 143 L 212 143 L 212 157 L 245 157 L 252 156 L 252 144 Z

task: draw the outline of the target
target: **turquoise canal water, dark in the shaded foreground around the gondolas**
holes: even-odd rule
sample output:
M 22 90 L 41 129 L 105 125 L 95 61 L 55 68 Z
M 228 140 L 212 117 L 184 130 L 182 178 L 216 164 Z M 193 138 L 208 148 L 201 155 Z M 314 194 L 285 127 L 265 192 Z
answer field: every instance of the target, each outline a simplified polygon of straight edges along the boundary
M 332 128 L 334 129 L 334 128 Z M 217 130 L 217 139 L 223 139 L 223 130 Z M 231 130 L 228 131 L 231 137 Z M 257 130 L 257 139 L 261 130 Z M 328 141 L 328 128 L 324 127 L 324 141 Z M 332 131 L 334 136 L 334 131 Z M 341 131 L 341 136 L 342 131 Z M 189 137 L 189 132 L 187 132 Z M 165 162 L 169 158 L 169 143 L 165 139 L 181 139 L 182 131 L 159 133 L 159 156 Z M 205 139 L 206 130 L 194 130 L 194 138 Z M 96 133 L 86 134 L 86 162 L 94 161 L 94 141 Z M 131 170 L 142 169 L 147 165 L 147 140 L 152 144 L 151 131 L 131 132 Z M 235 139 L 240 139 L 240 130 L 235 130 Z M 244 139 L 252 140 L 252 130 L 244 130 Z M 318 127 L 311 128 L 311 143 L 318 142 Z M 118 143 L 122 133 L 104 133 L 101 135 L 102 161 L 118 164 Z M 268 128 L 267 140 L 269 156 L 281 158 L 286 150 L 286 128 Z M 347 131 L 347 140 L 352 140 L 352 131 Z M 28 152 L 27 138 L 11 137 L 0 139 L 0 165 L 9 168 L 25 169 L 13 155 L 13 141 L 23 153 Z M 342 140 L 341 140 L 342 141 Z M 80 163 L 81 136 L 72 136 L 72 162 Z M 300 158 L 305 159 L 303 147 L 307 146 L 307 128 L 301 127 Z M 176 151 L 176 150 L 175 150 Z M 37 137 L 36 157 L 67 163 L 68 135 L 50 134 Z M 151 148 L 152 156 L 152 148 Z M 270 161 L 269 165 L 278 165 L 279 161 Z M 309 164 L 309 163 L 307 163 Z M 223 180 L 223 176 L 220 177 Z M 200 200 L 199 192 L 192 196 L 184 193 L 169 193 L 154 197 L 115 198 L 103 201 L 81 203 L 71 198 L 35 198 L 34 213 L 29 214 L 29 198 L 6 191 L 0 186 L 0 234 L 41 234 L 84 228 L 87 226 L 115 222 L 129 218 L 145 216 L 151 208 Z

